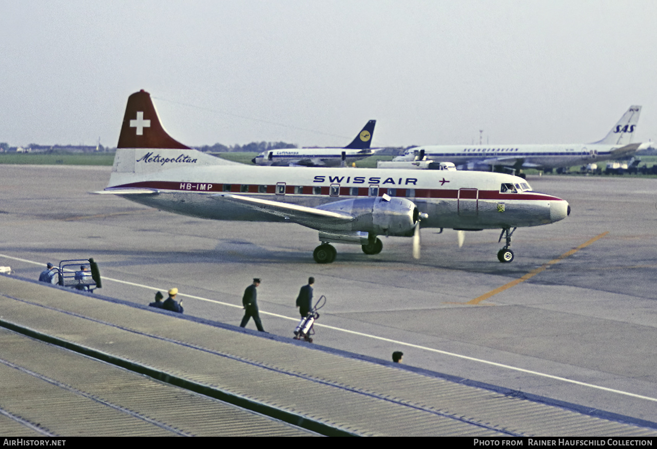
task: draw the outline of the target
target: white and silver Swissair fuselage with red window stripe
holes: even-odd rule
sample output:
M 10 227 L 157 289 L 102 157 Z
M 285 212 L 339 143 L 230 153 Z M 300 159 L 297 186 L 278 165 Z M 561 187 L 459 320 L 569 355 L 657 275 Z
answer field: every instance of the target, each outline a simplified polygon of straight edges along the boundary
M 139 150 L 136 150 L 139 151 Z M 140 158 L 137 158 L 139 160 Z M 567 215 L 568 203 L 529 190 L 522 178 L 503 173 L 385 169 L 290 169 L 249 166 L 179 167 L 144 173 L 112 173 L 112 188 L 147 188 L 154 194 L 124 198 L 174 213 L 215 220 L 286 221 L 262 211 L 222 201 L 222 192 L 319 207 L 350 198 L 407 198 L 428 214 L 422 227 L 513 228 L 553 223 Z M 122 182 L 122 178 L 131 182 Z M 502 184 L 517 185 L 501 192 Z M 526 186 L 524 190 L 522 185 Z M 524 191 L 523 191 L 524 190 Z

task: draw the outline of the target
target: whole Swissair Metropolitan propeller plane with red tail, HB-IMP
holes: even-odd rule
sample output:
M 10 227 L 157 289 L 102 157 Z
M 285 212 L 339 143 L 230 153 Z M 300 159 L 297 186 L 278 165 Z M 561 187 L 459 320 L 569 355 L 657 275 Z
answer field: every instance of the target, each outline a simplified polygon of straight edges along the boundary
M 510 262 L 511 235 L 520 226 L 562 220 L 560 198 L 533 192 L 505 173 L 386 169 L 255 167 L 221 160 L 172 139 L 150 95 L 129 96 L 109 186 L 137 203 L 215 220 L 298 223 L 319 231 L 313 257 L 330 263 L 330 243 L 359 244 L 365 254 L 382 249 L 378 236 L 413 238 L 419 257 L 425 228 L 501 229 L 497 254 Z

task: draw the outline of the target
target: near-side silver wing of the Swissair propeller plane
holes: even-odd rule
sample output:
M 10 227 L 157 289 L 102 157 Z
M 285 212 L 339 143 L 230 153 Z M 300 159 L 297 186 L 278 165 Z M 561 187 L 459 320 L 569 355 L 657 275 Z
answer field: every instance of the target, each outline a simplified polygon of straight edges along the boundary
M 317 228 L 318 225 L 336 226 L 344 223 L 349 223 L 355 218 L 348 213 L 339 213 L 317 209 L 315 207 L 307 207 L 298 204 L 283 203 L 278 201 L 261 200 L 260 198 L 253 198 L 245 195 L 233 194 L 215 194 L 215 198 L 226 200 L 233 203 L 239 203 L 250 209 L 268 213 L 275 217 L 281 217 L 298 223 L 300 225 L 308 226 L 310 228 Z

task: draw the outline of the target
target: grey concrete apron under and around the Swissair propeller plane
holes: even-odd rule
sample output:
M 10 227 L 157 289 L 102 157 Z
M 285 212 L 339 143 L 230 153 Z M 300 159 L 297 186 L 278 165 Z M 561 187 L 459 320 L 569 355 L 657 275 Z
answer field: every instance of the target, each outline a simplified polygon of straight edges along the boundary
M 519 228 L 516 258 L 499 232 L 422 230 L 383 238 L 367 256 L 336 245 L 317 265 L 317 232 L 298 225 L 206 221 L 148 209 L 102 190 L 110 167 L 0 166 L 0 265 L 37 278 L 46 262 L 94 257 L 104 295 L 148 303 L 179 288 L 185 313 L 239 324 L 251 278 L 265 330 L 292 336 L 308 276 L 327 296 L 315 341 L 657 421 L 656 179 L 530 177 L 564 198 L 560 223 Z M 99 303 L 99 306 L 102 303 Z M 248 324 L 253 328 L 253 322 Z

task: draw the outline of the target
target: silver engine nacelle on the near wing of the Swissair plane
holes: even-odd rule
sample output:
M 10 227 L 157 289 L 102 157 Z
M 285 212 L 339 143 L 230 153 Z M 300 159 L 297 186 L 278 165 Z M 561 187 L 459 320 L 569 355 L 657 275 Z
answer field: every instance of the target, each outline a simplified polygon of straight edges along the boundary
M 318 209 L 352 215 L 354 220 L 344 230 L 385 236 L 413 236 L 419 218 L 417 206 L 411 200 L 388 195 L 342 200 L 321 205 Z

